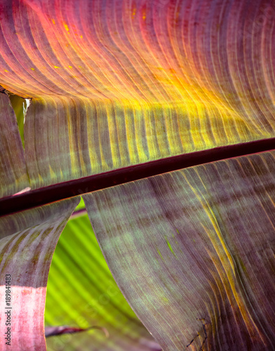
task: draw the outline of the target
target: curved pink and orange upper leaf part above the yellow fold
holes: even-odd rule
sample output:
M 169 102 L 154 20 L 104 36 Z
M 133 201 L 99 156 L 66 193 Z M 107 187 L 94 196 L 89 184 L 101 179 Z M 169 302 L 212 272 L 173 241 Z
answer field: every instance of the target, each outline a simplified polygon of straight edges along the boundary
M 271 19 L 250 34 L 246 26 L 257 26 L 257 16 L 247 13 L 245 1 L 238 13 L 246 16 L 239 18 L 229 2 L 208 0 L 199 9 L 187 1 L 165 2 L 83 1 L 76 14 L 72 1 L 65 16 L 61 4 L 53 10 L 50 3 L 25 1 L 4 19 L 18 35 L 10 42 L 12 26 L 3 25 L 1 82 L 25 97 L 177 108 L 182 119 L 191 119 L 192 131 L 197 124 L 229 123 L 243 139 L 251 130 L 253 138 L 268 137 L 274 130 Z M 224 13 L 222 23 L 213 13 Z

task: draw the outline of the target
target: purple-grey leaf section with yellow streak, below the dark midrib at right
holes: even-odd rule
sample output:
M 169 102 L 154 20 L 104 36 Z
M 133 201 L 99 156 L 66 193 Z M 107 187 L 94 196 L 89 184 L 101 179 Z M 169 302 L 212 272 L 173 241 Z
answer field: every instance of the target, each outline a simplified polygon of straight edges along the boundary
M 83 196 L 119 288 L 163 350 L 272 349 L 274 156 Z

